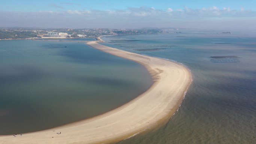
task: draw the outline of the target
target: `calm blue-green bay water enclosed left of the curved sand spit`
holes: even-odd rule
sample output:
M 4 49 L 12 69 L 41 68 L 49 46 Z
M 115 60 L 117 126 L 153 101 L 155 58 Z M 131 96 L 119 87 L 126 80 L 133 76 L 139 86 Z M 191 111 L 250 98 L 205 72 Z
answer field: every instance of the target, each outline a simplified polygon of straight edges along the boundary
M 83 42 L 0 41 L 0 135 L 48 129 L 127 103 L 147 70 Z

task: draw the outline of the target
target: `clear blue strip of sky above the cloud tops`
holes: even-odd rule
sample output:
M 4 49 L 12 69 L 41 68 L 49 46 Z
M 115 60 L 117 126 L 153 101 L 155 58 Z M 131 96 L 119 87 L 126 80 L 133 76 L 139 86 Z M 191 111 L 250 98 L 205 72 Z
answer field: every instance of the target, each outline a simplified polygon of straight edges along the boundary
M 231 9 L 256 10 L 256 0 L 5 0 L 0 9 L 6 11 L 59 11 L 59 10 L 112 10 L 128 7 L 154 7 L 155 9 L 182 9 L 189 7 L 229 7 Z

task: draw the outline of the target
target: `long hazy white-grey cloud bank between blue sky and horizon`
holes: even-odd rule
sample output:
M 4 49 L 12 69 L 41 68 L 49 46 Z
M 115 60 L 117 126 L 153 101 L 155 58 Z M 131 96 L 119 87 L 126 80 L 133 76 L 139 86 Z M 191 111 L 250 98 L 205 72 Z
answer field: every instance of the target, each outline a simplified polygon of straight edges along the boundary
M 52 4 L 56 7 L 57 5 Z M 61 8 L 62 7 L 58 7 Z M 255 28 L 256 12 L 216 6 L 201 9 L 129 7 L 121 10 L 0 11 L 0 27 L 51 28 Z

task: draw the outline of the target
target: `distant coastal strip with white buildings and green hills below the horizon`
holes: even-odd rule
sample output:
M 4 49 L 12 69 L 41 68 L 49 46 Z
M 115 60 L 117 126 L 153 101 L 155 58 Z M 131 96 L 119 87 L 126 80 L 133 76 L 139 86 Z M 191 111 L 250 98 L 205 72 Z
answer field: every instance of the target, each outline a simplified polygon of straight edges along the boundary
M 114 34 L 152 34 L 181 33 L 179 28 L 141 28 L 141 29 L 71 29 L 71 28 L 0 28 L 0 39 L 39 39 L 39 38 L 94 38 Z M 183 29 L 184 30 L 184 29 Z

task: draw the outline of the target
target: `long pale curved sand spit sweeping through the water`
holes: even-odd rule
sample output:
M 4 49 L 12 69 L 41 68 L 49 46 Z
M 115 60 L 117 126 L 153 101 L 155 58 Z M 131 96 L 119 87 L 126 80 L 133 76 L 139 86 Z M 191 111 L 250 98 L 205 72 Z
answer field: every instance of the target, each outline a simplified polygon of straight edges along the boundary
M 176 112 L 191 83 L 191 73 L 186 67 L 165 59 L 110 48 L 97 42 L 87 44 L 144 65 L 152 74 L 154 84 L 137 98 L 108 113 L 45 131 L 16 137 L 0 136 L 0 144 L 110 143 L 157 125 Z M 56 134 L 57 132 L 61 134 Z

